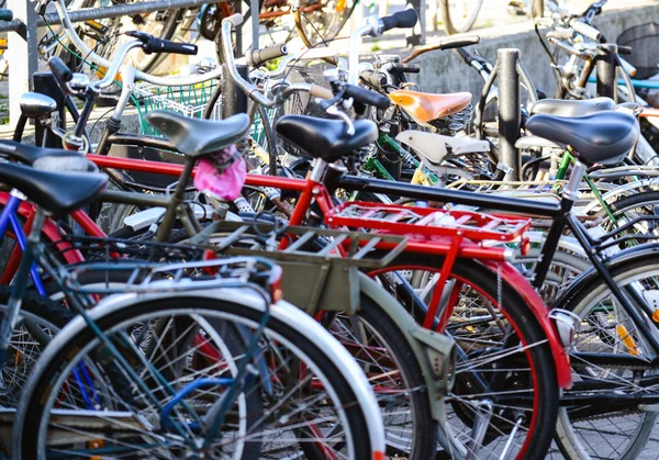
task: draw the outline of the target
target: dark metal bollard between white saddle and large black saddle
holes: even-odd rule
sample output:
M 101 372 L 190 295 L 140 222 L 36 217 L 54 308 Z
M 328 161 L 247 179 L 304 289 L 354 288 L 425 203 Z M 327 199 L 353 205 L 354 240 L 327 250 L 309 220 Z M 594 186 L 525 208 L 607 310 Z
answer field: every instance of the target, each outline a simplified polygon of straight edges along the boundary
M 522 125 L 521 85 L 517 74 L 520 49 L 499 49 L 499 158 L 511 168 L 505 180 L 520 180 L 522 161 L 515 143 Z

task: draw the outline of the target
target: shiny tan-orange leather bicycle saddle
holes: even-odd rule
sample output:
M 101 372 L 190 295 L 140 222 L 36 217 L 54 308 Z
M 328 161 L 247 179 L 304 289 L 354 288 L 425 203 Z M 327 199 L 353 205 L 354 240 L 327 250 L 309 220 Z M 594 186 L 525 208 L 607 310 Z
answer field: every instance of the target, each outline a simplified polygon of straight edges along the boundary
M 429 94 L 398 90 L 390 92 L 389 99 L 407 112 L 416 122 L 428 123 L 465 110 L 471 103 L 471 93 Z

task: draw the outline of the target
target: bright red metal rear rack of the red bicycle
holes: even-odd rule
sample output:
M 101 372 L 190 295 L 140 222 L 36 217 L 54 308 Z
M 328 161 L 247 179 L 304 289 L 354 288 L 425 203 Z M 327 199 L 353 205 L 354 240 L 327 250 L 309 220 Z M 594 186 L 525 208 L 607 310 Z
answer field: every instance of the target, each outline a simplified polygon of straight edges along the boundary
M 417 235 L 459 236 L 502 243 L 521 237 L 530 227 L 527 217 L 366 202 L 343 203 L 325 215 L 325 223 L 331 227 L 380 229 L 411 239 Z

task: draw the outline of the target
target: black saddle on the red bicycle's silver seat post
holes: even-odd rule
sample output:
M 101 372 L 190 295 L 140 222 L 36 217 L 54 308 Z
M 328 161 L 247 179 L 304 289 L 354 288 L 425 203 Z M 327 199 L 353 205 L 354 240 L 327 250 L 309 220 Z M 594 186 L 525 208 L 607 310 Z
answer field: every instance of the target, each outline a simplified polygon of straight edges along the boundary
M 357 120 L 354 124 L 355 134 L 349 135 L 348 125 L 340 120 L 286 115 L 275 130 L 303 154 L 332 162 L 378 138 L 378 126 L 370 120 Z

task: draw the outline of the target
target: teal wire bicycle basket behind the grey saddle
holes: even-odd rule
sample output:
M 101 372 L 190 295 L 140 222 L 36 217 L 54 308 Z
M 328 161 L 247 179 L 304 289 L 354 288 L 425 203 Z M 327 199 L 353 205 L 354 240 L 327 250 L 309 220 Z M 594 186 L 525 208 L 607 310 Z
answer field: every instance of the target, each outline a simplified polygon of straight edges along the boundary
M 161 137 L 161 134 L 146 123 L 145 116 L 154 110 L 167 110 L 190 117 L 203 117 L 203 113 L 217 87 L 216 80 L 203 81 L 192 86 L 160 87 L 139 83 L 133 90 L 135 104 L 139 114 L 141 132 L 147 136 Z M 219 119 L 220 98 L 211 119 Z

